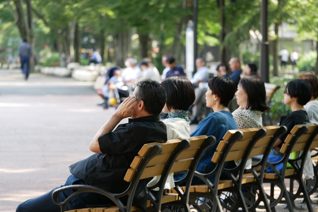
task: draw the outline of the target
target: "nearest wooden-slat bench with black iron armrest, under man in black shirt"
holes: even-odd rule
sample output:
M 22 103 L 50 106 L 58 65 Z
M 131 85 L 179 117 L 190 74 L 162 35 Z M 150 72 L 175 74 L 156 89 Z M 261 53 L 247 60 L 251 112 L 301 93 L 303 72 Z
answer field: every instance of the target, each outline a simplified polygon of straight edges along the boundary
M 139 210 L 137 207 L 132 206 L 133 197 L 138 184 L 141 179 L 146 179 L 161 175 L 160 180 L 151 188 L 150 200 L 147 202 L 147 207 L 151 207 L 156 211 L 161 210 L 161 205 L 166 202 L 172 202 L 179 199 L 177 194 L 163 195 L 163 187 L 167 176 L 171 172 L 184 171 L 189 169 L 189 166 L 193 166 L 202 152 L 209 146 L 215 143 L 215 137 L 213 136 L 197 136 L 191 137 L 189 140 L 168 140 L 166 143 L 149 143 L 145 144 L 138 153 L 138 156 L 131 163 L 131 168 L 127 170 L 124 177 L 125 181 L 130 182 L 126 191 L 121 194 L 110 193 L 104 189 L 97 188 L 88 185 L 71 185 L 65 186 L 55 190 L 52 194 L 53 202 L 61 207 L 61 212 L 66 211 L 67 203 L 76 195 L 86 192 L 94 192 L 104 195 L 111 199 L 115 206 L 111 207 L 99 207 L 99 208 L 86 208 L 70 210 L 68 212 L 129 212 Z M 186 150 L 185 150 L 186 149 Z M 151 194 L 151 189 L 159 187 L 160 190 L 156 195 Z M 59 192 L 77 189 L 73 195 L 69 196 L 65 201 L 59 202 L 57 196 Z M 128 195 L 128 202 L 125 206 L 119 199 Z M 189 209 L 189 208 L 188 208 Z M 190 210 L 190 209 L 189 209 Z

